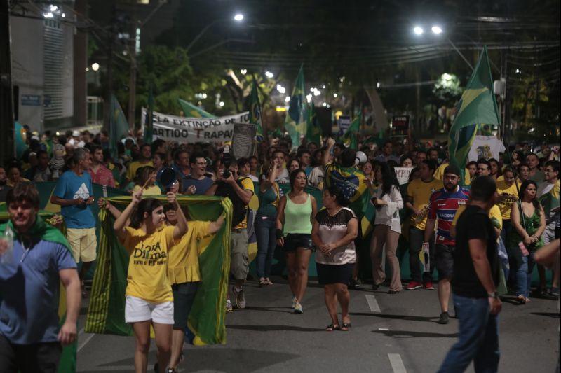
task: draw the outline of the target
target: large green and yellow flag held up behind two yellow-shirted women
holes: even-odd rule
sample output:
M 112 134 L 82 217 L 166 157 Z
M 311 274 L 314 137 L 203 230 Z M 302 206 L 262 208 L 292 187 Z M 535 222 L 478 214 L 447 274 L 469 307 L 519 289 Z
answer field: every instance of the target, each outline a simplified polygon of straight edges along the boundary
M 154 197 L 161 202 L 165 196 Z M 109 197 L 111 204 L 125 209 L 130 197 Z M 202 195 L 178 197 L 178 202 L 190 220 L 216 220 L 226 213 L 222 228 L 203 240 L 198 258 L 201 286 L 197 290 L 189 329 L 195 335 L 194 344 L 226 343 L 224 324 L 228 274 L 230 269 L 230 232 L 232 204 L 230 199 Z M 86 318 L 86 332 L 132 335 L 125 323 L 125 289 L 127 285 L 128 253 L 119 244 L 113 230 L 114 219 L 102 209 L 98 215 L 100 231 L 97 246 L 97 267 L 93 277 L 90 307 Z M 189 224 L 189 222 L 187 222 Z

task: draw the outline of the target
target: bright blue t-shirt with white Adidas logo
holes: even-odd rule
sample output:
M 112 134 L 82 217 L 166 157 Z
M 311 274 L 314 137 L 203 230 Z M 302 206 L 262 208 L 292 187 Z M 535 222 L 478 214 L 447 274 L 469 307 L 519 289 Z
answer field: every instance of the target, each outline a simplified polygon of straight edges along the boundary
M 82 176 L 78 176 L 72 170 L 66 171 L 58 179 L 53 193 L 62 199 L 87 199 L 93 196 L 92 178 L 88 172 L 83 172 Z M 84 229 L 95 227 L 92 209 L 87 204 L 62 206 L 60 212 L 65 218 L 67 228 Z

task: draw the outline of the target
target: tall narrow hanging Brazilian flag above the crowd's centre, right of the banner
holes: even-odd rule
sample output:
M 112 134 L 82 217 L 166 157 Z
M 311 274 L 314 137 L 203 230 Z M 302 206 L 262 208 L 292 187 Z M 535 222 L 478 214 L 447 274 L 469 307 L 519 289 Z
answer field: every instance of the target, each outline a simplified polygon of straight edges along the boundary
M 285 129 L 292 139 L 292 148 L 297 148 L 300 145 L 300 137 L 306 136 L 308 105 L 305 93 L 304 66 L 300 66 L 285 118 Z

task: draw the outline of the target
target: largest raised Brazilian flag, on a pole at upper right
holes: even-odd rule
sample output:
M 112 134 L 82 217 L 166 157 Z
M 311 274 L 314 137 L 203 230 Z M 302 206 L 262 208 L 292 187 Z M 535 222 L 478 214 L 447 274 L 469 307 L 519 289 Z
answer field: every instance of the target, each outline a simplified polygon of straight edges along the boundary
M 500 126 L 500 124 L 499 109 L 496 106 L 493 92 L 489 56 L 487 46 L 485 46 L 466 90 L 458 102 L 456 118 L 454 118 L 448 135 L 450 163 L 461 169 L 460 180 L 464 180 L 466 160 L 479 125 Z

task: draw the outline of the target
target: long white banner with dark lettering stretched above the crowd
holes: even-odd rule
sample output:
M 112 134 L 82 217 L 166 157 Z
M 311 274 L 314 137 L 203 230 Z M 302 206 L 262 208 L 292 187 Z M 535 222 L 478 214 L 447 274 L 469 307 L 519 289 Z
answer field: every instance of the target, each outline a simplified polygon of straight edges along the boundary
M 146 122 L 147 109 L 142 108 L 142 123 Z M 219 118 L 184 118 L 154 111 L 154 135 L 165 141 L 179 143 L 222 143 L 231 141 L 234 124 L 248 124 L 248 111 Z

